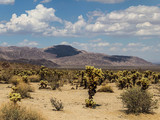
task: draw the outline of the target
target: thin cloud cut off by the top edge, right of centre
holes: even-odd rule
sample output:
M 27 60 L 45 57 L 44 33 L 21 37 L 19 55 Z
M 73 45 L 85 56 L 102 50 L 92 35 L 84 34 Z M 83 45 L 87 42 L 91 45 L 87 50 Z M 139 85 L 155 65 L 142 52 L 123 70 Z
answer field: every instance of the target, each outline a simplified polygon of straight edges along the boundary
M 105 4 L 114 4 L 124 2 L 125 0 L 87 0 L 88 2 L 100 2 Z

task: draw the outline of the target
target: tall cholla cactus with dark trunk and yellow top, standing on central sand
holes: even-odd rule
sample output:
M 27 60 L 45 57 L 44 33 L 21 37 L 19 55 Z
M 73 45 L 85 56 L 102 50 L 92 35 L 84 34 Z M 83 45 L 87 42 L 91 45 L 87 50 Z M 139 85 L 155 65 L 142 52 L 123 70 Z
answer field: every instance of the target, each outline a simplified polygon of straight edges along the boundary
M 89 94 L 89 101 L 93 101 L 93 96 L 96 93 L 96 88 L 98 85 L 98 80 L 99 78 L 103 77 L 103 72 L 101 69 L 98 68 L 94 68 L 94 66 L 86 66 L 86 79 L 87 79 L 87 83 L 88 83 L 88 94 Z M 87 107 L 89 107 L 88 104 L 86 103 Z M 92 105 L 91 105 L 92 107 Z

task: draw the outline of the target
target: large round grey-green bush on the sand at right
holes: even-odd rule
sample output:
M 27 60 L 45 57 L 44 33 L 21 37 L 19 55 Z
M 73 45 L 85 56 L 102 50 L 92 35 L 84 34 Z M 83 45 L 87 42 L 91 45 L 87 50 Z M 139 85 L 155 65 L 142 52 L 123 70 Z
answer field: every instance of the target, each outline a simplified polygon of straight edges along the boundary
M 121 94 L 121 99 L 128 113 L 149 113 L 157 108 L 157 100 L 140 87 L 133 87 Z

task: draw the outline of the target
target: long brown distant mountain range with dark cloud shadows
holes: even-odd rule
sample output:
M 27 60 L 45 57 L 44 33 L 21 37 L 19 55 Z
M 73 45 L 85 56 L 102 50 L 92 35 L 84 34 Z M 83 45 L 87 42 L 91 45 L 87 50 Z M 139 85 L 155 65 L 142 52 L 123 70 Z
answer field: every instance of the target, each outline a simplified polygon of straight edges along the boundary
M 152 66 L 144 59 L 133 56 L 107 55 L 78 50 L 69 45 L 56 45 L 49 48 L 0 47 L 0 60 L 18 63 L 62 66 Z

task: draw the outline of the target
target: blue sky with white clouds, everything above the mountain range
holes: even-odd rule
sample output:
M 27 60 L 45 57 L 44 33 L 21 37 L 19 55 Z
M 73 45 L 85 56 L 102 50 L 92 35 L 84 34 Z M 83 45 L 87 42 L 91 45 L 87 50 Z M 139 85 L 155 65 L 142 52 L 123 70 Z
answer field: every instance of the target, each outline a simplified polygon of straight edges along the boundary
M 58 44 L 160 62 L 160 1 L 0 0 L 0 46 Z

